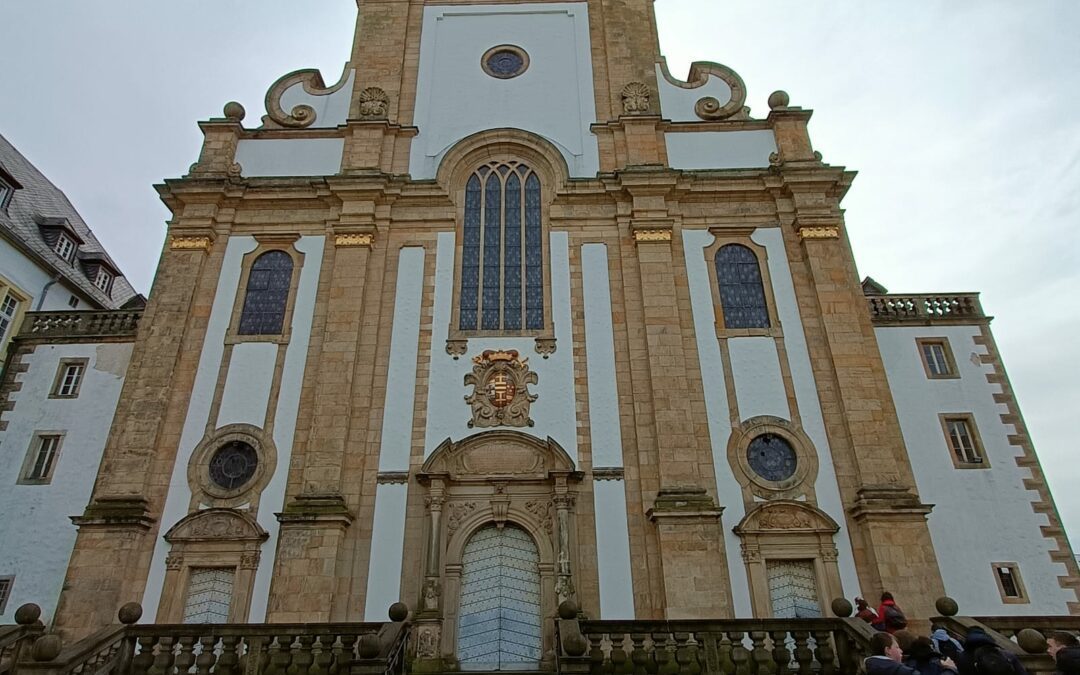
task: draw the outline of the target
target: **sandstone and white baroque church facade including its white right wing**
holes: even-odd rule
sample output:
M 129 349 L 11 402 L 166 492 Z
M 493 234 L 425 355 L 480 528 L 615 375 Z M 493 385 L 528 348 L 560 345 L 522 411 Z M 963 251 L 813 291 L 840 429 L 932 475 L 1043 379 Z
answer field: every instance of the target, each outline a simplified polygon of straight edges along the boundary
M 356 26 L 338 83 L 285 76 L 257 126 L 229 104 L 158 186 L 57 629 L 402 600 L 418 654 L 471 670 L 548 659 L 565 599 L 1080 608 L 977 296 L 860 283 L 854 174 L 809 110 L 673 76 L 651 0 L 360 0 Z

